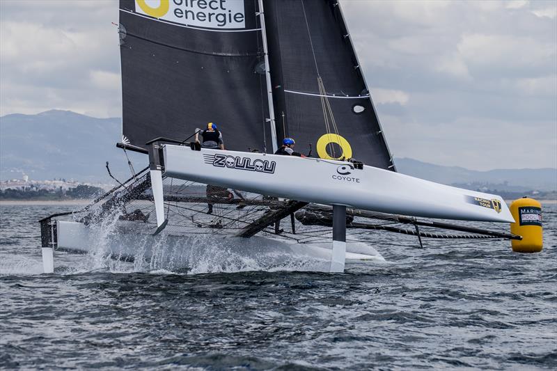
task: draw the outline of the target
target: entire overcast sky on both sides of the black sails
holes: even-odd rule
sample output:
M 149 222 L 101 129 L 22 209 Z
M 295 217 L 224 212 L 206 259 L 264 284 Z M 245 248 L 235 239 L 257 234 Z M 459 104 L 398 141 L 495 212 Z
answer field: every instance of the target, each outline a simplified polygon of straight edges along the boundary
M 395 157 L 557 167 L 557 1 L 341 1 Z M 118 2 L 0 0 L 0 116 L 121 116 Z

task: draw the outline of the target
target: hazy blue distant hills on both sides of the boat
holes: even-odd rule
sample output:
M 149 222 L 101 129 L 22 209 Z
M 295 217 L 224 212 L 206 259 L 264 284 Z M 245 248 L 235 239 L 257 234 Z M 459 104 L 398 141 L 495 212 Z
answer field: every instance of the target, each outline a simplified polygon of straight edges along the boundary
M 12 114 L 0 118 L 0 179 L 34 180 L 63 177 L 86 182 L 111 182 L 104 164 L 120 179 L 130 176 L 123 151 L 115 143 L 121 136 L 120 118 L 93 118 L 72 111 L 47 111 L 37 115 Z M 146 155 L 128 152 L 136 171 L 147 166 Z M 555 191 L 557 170 L 496 169 L 473 171 L 457 166 L 395 159 L 400 173 L 444 184 L 477 189 Z

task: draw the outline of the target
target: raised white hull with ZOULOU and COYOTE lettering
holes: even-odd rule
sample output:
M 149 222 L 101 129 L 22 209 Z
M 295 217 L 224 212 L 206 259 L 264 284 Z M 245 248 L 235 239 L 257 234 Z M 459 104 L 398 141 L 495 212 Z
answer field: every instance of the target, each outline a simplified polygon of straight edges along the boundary
M 449 187 L 371 166 L 357 170 L 343 161 L 209 149 L 194 151 L 181 145 L 164 145 L 164 175 L 375 212 L 437 219 L 514 221 L 501 196 Z

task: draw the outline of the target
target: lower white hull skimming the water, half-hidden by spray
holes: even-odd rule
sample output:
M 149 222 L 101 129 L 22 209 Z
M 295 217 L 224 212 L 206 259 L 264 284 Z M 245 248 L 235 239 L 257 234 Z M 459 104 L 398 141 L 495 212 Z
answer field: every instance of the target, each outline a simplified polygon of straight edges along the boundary
M 222 235 L 149 235 L 122 226 L 107 232 L 83 223 L 57 221 L 58 249 L 143 259 L 152 269 L 214 271 L 293 270 L 330 271 L 330 244 L 296 244 L 265 237 Z M 133 223 L 129 223 L 131 227 Z M 365 244 L 347 244 L 349 261 L 383 260 Z

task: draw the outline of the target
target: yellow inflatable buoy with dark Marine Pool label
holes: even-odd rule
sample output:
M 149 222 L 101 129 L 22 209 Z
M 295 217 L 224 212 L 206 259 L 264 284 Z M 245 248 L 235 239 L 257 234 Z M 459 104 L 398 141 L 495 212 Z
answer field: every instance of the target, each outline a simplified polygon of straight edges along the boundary
M 510 204 L 510 213 L 515 218 L 515 223 L 510 223 L 510 232 L 522 236 L 521 240 L 511 241 L 512 251 L 542 251 L 542 204 L 532 198 L 519 198 Z

